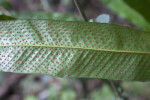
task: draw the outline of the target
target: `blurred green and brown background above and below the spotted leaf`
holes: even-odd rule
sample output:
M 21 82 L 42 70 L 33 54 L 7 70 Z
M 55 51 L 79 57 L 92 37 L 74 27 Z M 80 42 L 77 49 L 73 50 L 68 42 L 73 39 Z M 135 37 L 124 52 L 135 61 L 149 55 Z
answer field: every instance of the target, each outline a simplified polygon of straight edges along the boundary
M 140 0 L 135 0 L 137 5 L 134 6 L 135 1 L 131 0 L 79 1 L 91 22 L 150 30 L 150 14 L 146 13 L 150 9 L 145 9 L 150 2 L 141 4 Z M 145 12 L 141 9 L 145 9 Z M 82 21 L 73 0 L 0 0 L 0 14 L 23 19 Z M 114 82 L 122 99 L 116 97 L 111 82 Z M 150 82 L 0 72 L 0 100 L 150 100 Z

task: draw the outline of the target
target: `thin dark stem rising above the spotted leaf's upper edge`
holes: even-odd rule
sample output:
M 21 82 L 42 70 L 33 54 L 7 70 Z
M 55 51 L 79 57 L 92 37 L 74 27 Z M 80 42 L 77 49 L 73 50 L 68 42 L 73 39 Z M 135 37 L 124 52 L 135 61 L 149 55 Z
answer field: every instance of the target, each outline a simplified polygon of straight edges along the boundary
M 77 7 L 77 9 L 78 9 L 78 11 L 79 11 L 79 13 L 80 13 L 80 15 L 82 16 L 83 20 L 84 20 L 85 22 L 88 22 L 88 18 L 86 17 L 84 11 L 82 10 L 79 1 L 78 1 L 78 0 L 74 0 L 74 3 L 75 3 L 75 5 L 76 5 L 76 7 Z

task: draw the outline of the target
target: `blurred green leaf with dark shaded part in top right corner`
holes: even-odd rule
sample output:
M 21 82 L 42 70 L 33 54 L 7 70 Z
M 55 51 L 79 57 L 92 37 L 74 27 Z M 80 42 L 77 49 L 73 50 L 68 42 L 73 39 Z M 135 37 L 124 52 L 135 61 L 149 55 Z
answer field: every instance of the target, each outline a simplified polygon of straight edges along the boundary
M 150 0 L 102 0 L 110 9 L 136 26 L 150 31 Z

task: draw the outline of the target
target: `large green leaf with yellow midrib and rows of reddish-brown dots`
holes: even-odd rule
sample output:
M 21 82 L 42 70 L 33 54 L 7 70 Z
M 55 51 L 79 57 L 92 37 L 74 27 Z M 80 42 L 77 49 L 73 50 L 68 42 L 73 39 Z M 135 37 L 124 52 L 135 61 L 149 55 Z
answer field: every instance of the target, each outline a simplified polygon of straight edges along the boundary
M 150 80 L 150 34 L 113 24 L 0 22 L 0 70 L 57 77 Z

